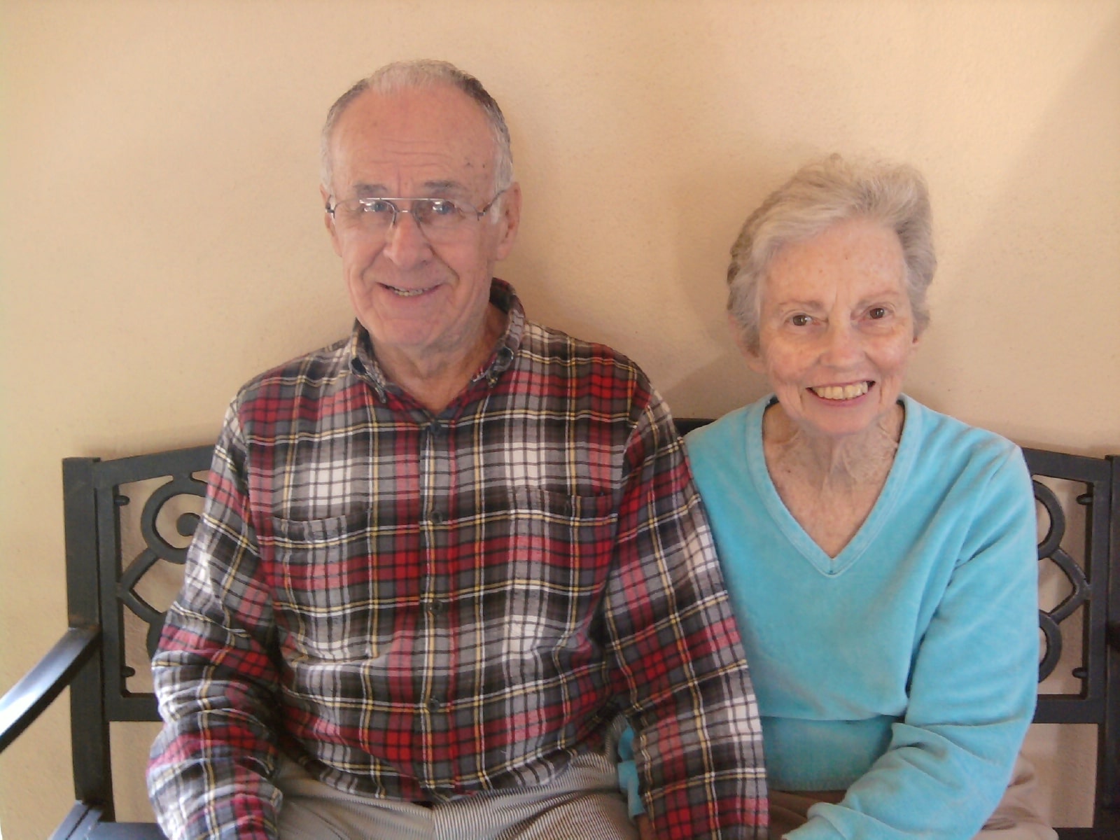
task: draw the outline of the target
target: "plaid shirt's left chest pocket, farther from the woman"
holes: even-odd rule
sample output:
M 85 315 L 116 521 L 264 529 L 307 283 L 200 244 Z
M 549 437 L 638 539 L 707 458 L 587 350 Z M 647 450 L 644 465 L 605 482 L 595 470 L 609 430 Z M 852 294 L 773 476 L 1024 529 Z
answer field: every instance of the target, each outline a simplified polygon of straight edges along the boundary
M 379 647 L 373 516 L 269 522 L 273 598 L 286 659 L 367 659 Z

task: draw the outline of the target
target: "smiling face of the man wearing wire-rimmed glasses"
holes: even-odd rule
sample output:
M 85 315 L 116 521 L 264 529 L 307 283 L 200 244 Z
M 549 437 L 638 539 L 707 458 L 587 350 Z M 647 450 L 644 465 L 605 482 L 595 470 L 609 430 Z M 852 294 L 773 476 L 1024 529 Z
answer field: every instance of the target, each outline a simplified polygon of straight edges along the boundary
M 333 193 L 323 190 L 325 202 L 448 198 L 480 209 L 494 198 L 486 116 L 450 86 L 365 92 L 343 113 L 330 148 Z M 327 216 L 351 302 L 379 358 L 454 364 L 477 352 L 494 263 L 513 245 L 520 198 L 514 185 L 483 218 L 470 214 L 431 239 L 411 214 L 383 233 Z

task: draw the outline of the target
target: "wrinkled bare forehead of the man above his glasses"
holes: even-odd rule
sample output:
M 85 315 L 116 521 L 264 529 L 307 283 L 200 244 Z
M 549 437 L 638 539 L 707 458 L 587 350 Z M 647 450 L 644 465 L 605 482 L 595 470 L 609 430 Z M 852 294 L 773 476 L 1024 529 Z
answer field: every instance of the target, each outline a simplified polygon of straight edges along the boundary
M 438 184 L 482 199 L 494 181 L 496 155 L 482 108 L 455 87 L 366 91 L 335 125 L 333 187 L 342 195 L 379 188 L 428 195 L 421 188 Z

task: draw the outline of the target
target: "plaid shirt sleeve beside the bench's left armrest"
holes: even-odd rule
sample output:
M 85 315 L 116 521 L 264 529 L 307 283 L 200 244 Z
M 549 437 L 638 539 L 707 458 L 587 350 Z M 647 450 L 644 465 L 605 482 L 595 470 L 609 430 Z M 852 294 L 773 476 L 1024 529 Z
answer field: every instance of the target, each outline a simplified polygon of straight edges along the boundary
M 168 609 L 152 675 L 164 728 L 148 791 L 171 840 L 277 838 L 272 608 L 249 514 L 245 444 L 235 409 Z

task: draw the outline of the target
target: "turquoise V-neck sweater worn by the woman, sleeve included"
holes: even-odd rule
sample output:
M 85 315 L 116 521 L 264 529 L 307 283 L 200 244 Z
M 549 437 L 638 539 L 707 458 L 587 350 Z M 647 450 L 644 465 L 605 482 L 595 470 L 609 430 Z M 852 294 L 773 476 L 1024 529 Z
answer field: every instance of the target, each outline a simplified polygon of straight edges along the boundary
M 768 784 L 847 790 L 787 837 L 969 840 L 1007 786 L 1035 704 L 1023 455 L 904 396 L 883 492 L 829 558 L 766 469 L 772 399 L 687 441 L 758 697 Z

